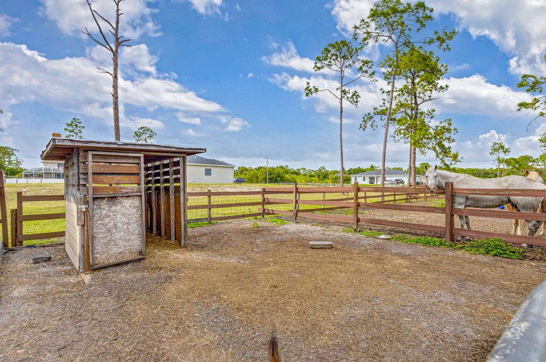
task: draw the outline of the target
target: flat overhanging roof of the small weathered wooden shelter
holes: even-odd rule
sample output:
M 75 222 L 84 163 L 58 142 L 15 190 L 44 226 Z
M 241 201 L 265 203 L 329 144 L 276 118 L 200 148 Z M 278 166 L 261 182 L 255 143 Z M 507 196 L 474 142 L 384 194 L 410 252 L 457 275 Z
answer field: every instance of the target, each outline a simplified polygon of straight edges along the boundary
M 64 161 L 74 148 L 96 151 L 117 151 L 144 154 L 145 162 L 160 161 L 169 157 L 194 155 L 206 152 L 205 148 L 188 148 L 152 143 L 94 141 L 92 139 L 51 138 L 41 153 L 42 160 Z

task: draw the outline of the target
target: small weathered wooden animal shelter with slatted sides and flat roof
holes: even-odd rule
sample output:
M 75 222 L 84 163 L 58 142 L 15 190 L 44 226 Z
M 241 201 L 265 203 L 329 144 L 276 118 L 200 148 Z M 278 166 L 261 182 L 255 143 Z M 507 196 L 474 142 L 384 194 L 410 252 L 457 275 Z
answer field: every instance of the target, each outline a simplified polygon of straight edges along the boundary
M 146 228 L 187 247 L 186 157 L 205 151 L 52 138 L 41 159 L 64 161 L 65 247 L 76 268 L 144 258 Z

